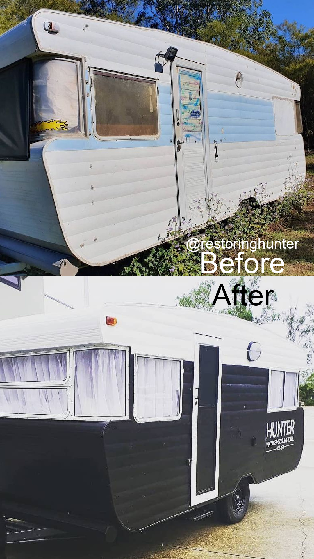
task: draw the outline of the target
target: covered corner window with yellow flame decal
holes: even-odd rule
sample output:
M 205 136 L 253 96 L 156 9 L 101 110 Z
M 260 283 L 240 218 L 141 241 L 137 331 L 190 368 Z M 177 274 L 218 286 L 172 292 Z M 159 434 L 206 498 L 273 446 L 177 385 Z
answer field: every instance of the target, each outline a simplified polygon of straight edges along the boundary
M 77 62 L 37 60 L 32 84 L 31 141 L 80 132 Z

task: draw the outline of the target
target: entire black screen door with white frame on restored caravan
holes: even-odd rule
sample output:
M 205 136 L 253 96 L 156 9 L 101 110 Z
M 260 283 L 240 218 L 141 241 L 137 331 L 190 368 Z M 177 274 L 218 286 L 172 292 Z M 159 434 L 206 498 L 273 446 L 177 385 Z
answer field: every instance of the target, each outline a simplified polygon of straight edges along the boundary
M 191 506 L 218 496 L 221 339 L 195 335 Z

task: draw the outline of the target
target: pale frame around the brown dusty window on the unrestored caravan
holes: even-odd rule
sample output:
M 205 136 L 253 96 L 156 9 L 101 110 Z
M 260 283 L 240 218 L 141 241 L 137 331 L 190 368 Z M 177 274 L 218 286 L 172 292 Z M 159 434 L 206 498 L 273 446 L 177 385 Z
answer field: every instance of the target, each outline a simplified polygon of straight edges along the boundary
M 94 87 L 94 72 L 99 72 L 102 73 L 104 75 L 110 75 L 112 77 L 121 77 L 122 79 L 131 79 L 134 81 L 140 81 L 140 82 L 154 82 L 155 87 L 156 87 L 156 106 L 157 106 L 157 124 L 158 124 L 158 134 L 156 134 L 155 136 L 99 136 L 99 134 L 97 133 L 97 128 L 96 128 L 96 105 L 95 105 L 95 101 L 96 101 L 96 95 L 95 95 L 95 87 Z M 91 107 L 92 107 L 92 129 L 93 129 L 93 134 L 95 136 L 95 138 L 99 141 L 117 141 L 117 140 L 121 140 L 121 141 L 126 141 L 126 140 L 158 140 L 160 138 L 161 135 L 161 130 L 160 130 L 160 108 L 159 108 L 159 80 L 156 78 L 150 78 L 148 76 L 141 76 L 141 75 L 131 75 L 131 74 L 126 74 L 123 72 L 114 72 L 113 70 L 106 70 L 103 68 L 94 68 L 91 67 L 89 68 L 89 80 L 90 83 L 92 84 L 92 88 L 91 88 Z

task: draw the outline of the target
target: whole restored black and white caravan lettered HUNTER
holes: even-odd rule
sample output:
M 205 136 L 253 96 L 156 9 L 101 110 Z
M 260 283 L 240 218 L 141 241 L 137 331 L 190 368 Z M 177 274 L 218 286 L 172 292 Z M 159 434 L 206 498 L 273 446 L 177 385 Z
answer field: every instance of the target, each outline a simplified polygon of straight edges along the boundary
M 217 501 L 239 522 L 251 483 L 298 465 L 306 367 L 271 331 L 184 307 L 3 320 L 3 514 L 112 534 Z

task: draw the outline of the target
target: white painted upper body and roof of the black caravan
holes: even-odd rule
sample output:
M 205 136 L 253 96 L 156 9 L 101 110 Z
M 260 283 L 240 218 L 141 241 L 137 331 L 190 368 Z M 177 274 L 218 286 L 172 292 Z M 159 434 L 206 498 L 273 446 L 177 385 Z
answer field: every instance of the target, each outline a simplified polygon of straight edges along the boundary
M 106 316 L 117 324 L 106 326 Z M 188 307 L 106 304 L 83 309 L 0 321 L 0 354 L 77 347 L 123 345 L 132 353 L 194 361 L 194 334 L 222 339 L 224 364 L 249 365 L 250 342 L 260 342 L 261 357 L 252 366 L 306 369 L 306 351 L 286 338 L 249 321 Z

